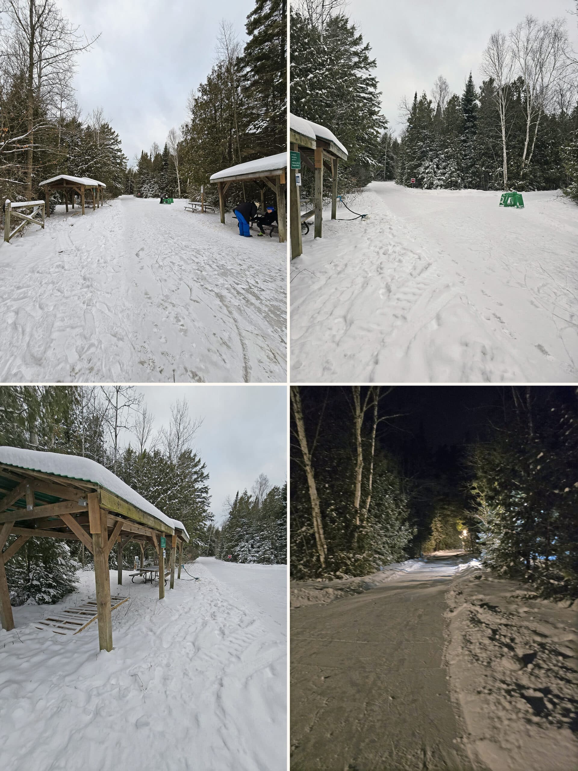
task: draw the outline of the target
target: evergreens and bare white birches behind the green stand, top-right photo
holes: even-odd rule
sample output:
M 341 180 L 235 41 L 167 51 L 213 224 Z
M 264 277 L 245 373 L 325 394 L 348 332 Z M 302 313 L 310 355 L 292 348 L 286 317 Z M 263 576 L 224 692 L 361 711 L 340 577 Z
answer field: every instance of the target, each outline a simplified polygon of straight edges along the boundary
M 555 190 L 576 196 L 578 69 L 566 22 L 527 15 L 495 32 L 482 54 L 485 79 L 472 73 L 462 95 L 443 76 L 431 98 L 402 103 L 406 126 L 395 181 L 459 190 Z

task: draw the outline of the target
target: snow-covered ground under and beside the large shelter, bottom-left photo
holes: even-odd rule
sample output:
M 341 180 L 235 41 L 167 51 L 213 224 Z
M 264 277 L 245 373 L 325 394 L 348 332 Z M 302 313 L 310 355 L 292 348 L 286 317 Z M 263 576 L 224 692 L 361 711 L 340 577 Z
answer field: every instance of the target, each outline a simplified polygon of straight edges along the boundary
M 110 653 L 96 622 L 72 637 L 31 624 L 94 596 L 90 572 L 62 604 L 14 608 L 16 628 L 0 630 L 2 768 L 285 769 L 286 569 L 223 566 L 230 581 L 210 560 L 186 567 L 201 580 L 183 571 L 163 601 L 111 571 L 130 600 L 113 611 Z

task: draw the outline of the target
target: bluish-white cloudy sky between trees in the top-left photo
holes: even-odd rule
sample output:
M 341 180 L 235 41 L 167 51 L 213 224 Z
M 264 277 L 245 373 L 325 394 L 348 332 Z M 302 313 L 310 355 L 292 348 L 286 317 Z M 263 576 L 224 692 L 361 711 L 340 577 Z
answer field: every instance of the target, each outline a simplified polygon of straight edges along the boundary
M 76 98 L 86 116 L 102 106 L 123 152 L 162 147 L 171 126 L 187 117 L 187 96 L 210 71 L 219 22 L 234 25 L 245 42 L 253 0 L 59 0 L 62 12 L 89 38 L 78 59 Z

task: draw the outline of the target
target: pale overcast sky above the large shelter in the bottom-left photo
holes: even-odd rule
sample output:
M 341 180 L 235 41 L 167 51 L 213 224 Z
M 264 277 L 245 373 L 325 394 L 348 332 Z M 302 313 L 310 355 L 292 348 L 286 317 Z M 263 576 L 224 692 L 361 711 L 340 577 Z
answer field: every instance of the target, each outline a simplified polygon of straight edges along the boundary
M 170 406 L 187 399 L 191 418 L 203 418 L 193 440 L 210 473 L 211 510 L 223 518 L 225 498 L 250 490 L 260 473 L 271 484 L 287 480 L 287 388 L 284 385 L 146 385 L 139 388 L 168 428 Z M 131 437 L 125 433 L 123 443 Z M 134 439 L 132 439 L 134 446 Z

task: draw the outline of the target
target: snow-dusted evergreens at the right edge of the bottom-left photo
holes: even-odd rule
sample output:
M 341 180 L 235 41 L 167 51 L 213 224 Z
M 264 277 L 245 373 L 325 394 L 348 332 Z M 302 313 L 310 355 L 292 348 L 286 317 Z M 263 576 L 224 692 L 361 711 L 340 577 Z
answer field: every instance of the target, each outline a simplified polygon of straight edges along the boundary
M 226 507 L 226 517 L 213 531 L 207 554 L 231 562 L 287 563 L 286 484 L 271 487 L 267 476 L 260 474 L 250 493 L 237 490 Z

